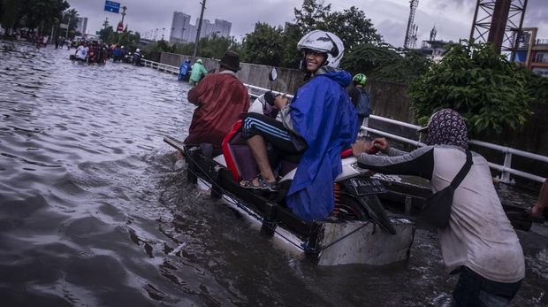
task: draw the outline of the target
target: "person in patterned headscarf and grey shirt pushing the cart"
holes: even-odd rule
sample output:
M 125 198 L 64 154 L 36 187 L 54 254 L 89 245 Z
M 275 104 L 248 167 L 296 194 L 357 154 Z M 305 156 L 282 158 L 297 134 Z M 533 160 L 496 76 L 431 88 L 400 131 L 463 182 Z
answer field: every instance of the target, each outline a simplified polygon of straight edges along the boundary
M 430 180 L 436 193 L 449 186 L 465 164 L 467 127 L 457 111 L 430 117 L 426 145 L 412 152 L 395 150 L 385 139 L 356 142 L 361 167 L 378 173 L 408 174 Z M 377 147 L 386 156 L 369 155 Z M 438 237 L 449 273 L 460 273 L 453 291 L 456 306 L 506 306 L 525 277 L 523 251 L 492 183 L 487 160 L 472 152 L 473 164 L 455 189 L 449 225 Z

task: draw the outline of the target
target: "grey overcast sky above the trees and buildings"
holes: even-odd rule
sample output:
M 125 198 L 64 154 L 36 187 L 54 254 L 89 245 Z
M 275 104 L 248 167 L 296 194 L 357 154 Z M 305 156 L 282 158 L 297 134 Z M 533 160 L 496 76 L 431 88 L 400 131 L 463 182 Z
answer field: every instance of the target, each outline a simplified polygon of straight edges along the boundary
M 88 33 L 102 27 L 105 18 L 116 25 L 121 15 L 104 12 L 104 0 L 67 0 L 81 17 L 88 17 Z M 169 38 L 173 12 L 185 12 L 192 16 L 192 23 L 200 16 L 200 0 L 113 0 L 126 5 L 125 24 L 130 30 L 145 35 L 158 28 L 158 39 L 165 28 Z M 515 0 L 514 0 L 515 1 Z M 523 1 L 523 0 L 521 0 Z M 325 0 L 329 4 L 330 0 Z M 231 35 L 241 40 L 253 31 L 255 22 L 271 26 L 283 26 L 293 21 L 293 8 L 301 8 L 301 0 L 206 0 L 204 19 L 225 19 L 232 23 Z M 384 41 L 402 46 L 409 15 L 408 0 L 337 0 L 332 1 L 331 12 L 343 11 L 356 6 L 371 19 Z M 429 39 L 430 29 L 436 26 L 437 39 L 458 41 L 468 38 L 476 0 L 419 0 L 415 15 L 418 26 L 417 46 Z M 548 0 L 529 0 L 523 27 L 538 27 L 538 38 L 548 39 Z

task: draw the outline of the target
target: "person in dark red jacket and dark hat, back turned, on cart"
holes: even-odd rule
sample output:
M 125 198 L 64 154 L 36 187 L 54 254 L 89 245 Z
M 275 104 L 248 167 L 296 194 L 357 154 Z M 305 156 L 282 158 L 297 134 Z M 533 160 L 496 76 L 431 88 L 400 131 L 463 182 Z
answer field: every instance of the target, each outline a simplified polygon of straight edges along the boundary
M 228 50 L 219 63 L 219 73 L 206 75 L 188 92 L 188 101 L 197 106 L 185 143 L 220 146 L 234 122 L 249 109 L 247 88 L 236 76 L 240 55 Z

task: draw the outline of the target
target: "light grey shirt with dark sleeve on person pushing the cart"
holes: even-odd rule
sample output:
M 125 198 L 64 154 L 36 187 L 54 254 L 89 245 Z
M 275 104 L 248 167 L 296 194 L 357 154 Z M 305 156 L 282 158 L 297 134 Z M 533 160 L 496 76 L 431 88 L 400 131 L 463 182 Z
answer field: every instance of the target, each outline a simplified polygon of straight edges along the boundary
M 466 266 L 484 278 L 516 282 L 525 277 L 523 250 L 492 183 L 489 164 L 472 152 L 474 164 L 456 188 L 449 226 L 438 229 L 447 272 Z M 362 167 L 378 173 L 409 174 L 430 180 L 433 193 L 449 186 L 466 161 L 457 146 L 425 146 L 388 156 L 362 154 Z

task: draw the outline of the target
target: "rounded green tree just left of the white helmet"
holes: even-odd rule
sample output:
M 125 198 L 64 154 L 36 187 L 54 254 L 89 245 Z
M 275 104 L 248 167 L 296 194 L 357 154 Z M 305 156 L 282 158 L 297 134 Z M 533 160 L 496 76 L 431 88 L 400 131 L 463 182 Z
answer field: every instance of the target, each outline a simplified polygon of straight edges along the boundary
M 242 42 L 242 61 L 278 66 L 284 58 L 284 39 L 280 27 L 257 22 L 255 30 Z

